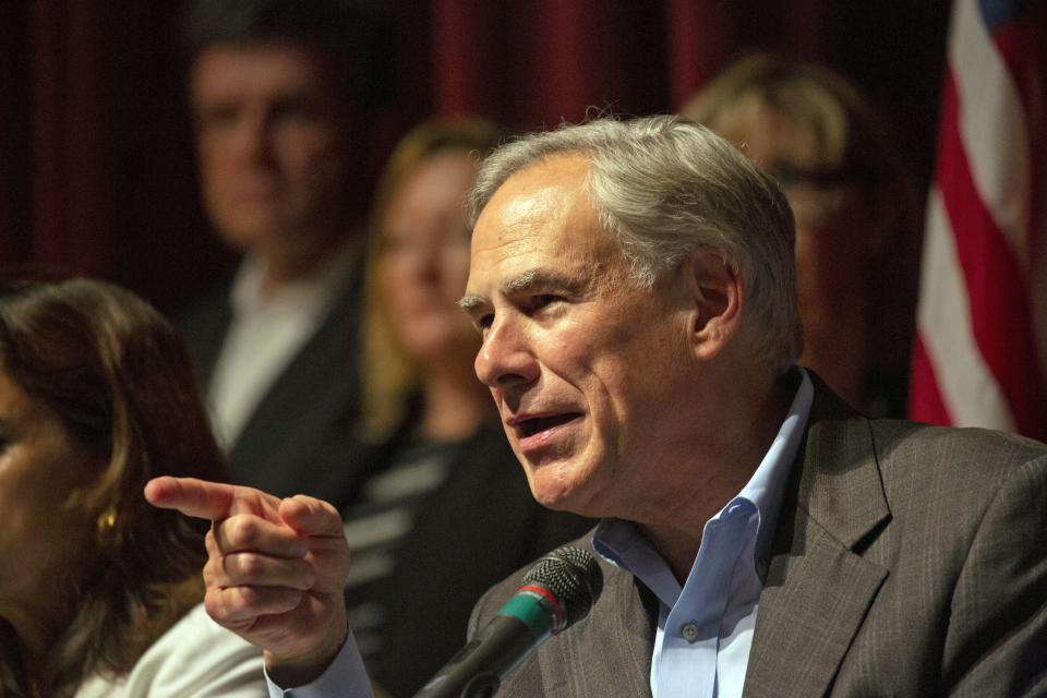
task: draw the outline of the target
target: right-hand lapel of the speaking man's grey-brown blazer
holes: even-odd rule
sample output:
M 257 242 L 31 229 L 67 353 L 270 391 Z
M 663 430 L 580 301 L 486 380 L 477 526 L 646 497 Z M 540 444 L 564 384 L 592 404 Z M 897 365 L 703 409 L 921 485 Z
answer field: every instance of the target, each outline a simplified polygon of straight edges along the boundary
M 803 464 L 786 490 L 744 695 L 823 696 L 887 578 L 861 553 L 890 519 L 868 421 L 811 375 Z

